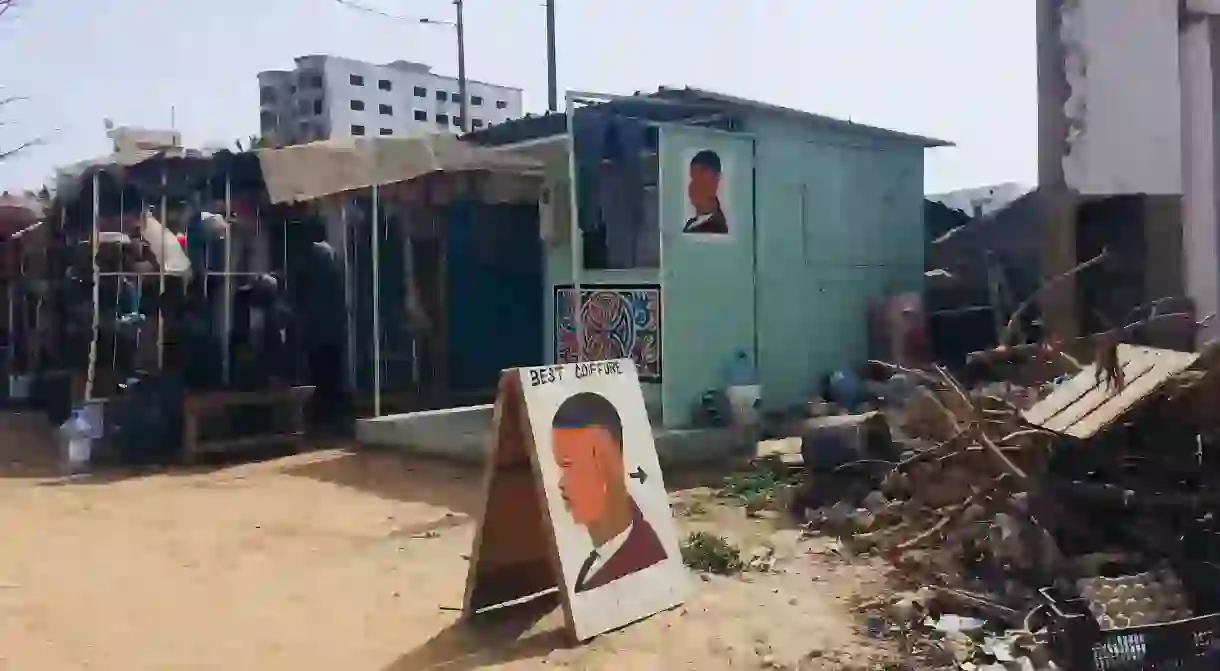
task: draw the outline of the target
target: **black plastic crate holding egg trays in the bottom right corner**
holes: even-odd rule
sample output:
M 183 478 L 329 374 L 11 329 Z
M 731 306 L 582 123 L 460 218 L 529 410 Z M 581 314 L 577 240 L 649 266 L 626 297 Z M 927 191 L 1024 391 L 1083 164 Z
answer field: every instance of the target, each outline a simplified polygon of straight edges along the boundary
M 1052 620 L 1052 647 L 1072 671 L 1220 670 L 1220 569 L 1175 566 L 1196 612 L 1176 622 L 1102 631 L 1078 595 L 1042 589 Z

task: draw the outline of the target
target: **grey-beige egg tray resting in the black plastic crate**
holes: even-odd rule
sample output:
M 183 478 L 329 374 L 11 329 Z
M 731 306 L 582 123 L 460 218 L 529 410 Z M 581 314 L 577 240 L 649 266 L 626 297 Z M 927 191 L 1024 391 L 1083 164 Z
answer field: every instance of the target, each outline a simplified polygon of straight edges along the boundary
M 1182 581 L 1168 567 L 1115 578 L 1081 578 L 1076 588 L 1103 631 L 1193 617 Z

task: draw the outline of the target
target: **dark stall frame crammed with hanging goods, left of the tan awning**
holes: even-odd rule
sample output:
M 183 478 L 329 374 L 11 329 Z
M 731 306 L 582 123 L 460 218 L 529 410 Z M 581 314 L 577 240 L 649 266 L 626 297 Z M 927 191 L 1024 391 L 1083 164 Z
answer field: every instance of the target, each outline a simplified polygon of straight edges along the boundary
M 305 376 L 287 322 L 273 328 L 290 312 L 290 212 L 266 206 L 257 157 L 129 159 L 61 188 L 61 355 L 95 438 L 123 461 L 299 440 Z

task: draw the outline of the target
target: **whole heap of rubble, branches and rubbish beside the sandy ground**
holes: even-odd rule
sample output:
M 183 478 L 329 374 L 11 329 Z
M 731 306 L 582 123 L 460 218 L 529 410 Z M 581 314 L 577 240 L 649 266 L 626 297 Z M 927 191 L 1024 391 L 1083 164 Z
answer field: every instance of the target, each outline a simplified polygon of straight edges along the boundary
M 1087 439 L 1027 421 L 1072 384 L 1064 378 L 967 388 L 943 367 L 900 370 L 903 393 L 881 398 L 882 410 L 808 418 L 800 456 L 788 444 L 772 458 L 803 468 L 793 508 L 810 531 L 893 564 L 908 589 L 870 606 L 893 631 L 931 634 L 947 666 L 1047 669 L 1052 656 L 1083 654 L 1093 662 L 1082 669 L 1126 669 L 1097 660 L 1144 659 L 1154 642 L 1141 633 L 1133 648 L 1110 650 L 1103 632 L 1220 612 L 1220 594 L 1210 610 L 1209 598 L 1174 592 L 1182 580 L 1170 569 L 1220 565 L 1220 471 L 1204 445 L 1220 405 L 1207 375 L 1214 359 L 1149 389 L 1136 389 L 1154 386 L 1135 364 L 1126 381 L 1086 368 L 1110 394 L 1098 407 L 1115 405 L 1124 384 L 1142 393 Z M 1068 632 L 1065 622 L 1087 627 Z M 1205 625 L 1220 632 L 1220 620 Z

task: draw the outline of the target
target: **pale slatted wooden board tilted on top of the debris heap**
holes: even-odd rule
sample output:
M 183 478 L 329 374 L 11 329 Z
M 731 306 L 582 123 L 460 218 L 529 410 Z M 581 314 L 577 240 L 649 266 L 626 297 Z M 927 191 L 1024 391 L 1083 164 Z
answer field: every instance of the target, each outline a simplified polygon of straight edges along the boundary
M 1111 389 L 1104 379 L 1098 384 L 1097 366 L 1091 365 L 1026 410 L 1025 421 L 1072 438 L 1092 438 L 1198 357 L 1193 351 L 1119 345 L 1121 389 Z

